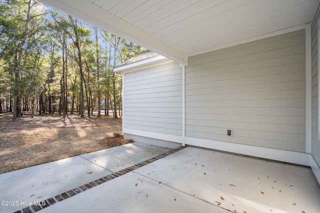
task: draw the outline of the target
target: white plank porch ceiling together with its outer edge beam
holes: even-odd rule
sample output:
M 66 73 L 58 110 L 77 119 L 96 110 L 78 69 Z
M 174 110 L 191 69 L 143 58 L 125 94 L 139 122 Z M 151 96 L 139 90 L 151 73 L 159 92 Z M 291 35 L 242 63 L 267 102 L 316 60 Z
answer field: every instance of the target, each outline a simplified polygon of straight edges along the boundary
M 165 57 L 310 23 L 317 0 L 40 0 Z

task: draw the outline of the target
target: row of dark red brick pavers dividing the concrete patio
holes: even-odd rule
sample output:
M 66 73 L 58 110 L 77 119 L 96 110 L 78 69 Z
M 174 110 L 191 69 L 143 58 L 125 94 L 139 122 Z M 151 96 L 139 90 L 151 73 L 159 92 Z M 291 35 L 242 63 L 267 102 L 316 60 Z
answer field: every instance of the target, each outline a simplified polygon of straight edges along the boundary
M 92 181 L 90 183 L 87 183 L 87 184 L 84 184 L 82 186 L 79 186 L 79 187 L 77 187 L 77 188 L 75 188 L 73 190 L 69 190 L 67 192 L 61 193 L 60 195 L 57 195 L 57 196 L 54 196 L 52 198 L 46 199 L 44 201 L 41 201 L 41 202 L 39 202 L 39 204 L 41 204 L 41 206 L 40 205 L 39 206 L 35 206 L 35 205 L 28 206 L 28 207 L 26 207 L 26 208 L 24 208 L 22 210 L 14 212 L 14 213 L 35 213 L 35 212 L 38 212 L 38 211 L 40 211 L 40 210 L 42 210 L 44 208 L 52 206 L 53 204 L 56 204 L 56 203 L 58 203 L 60 201 L 63 201 L 63 200 L 68 199 L 68 198 L 71 198 L 72 196 L 75 196 L 75 195 L 77 195 L 77 194 L 79 194 L 81 192 L 84 192 L 84 191 L 89 190 L 89 189 L 91 189 L 93 187 L 96 187 L 96 186 L 98 186 L 100 184 L 103 184 L 103 183 L 105 183 L 105 182 L 107 182 L 109 180 L 112 180 L 114 178 L 122 176 L 122 175 L 124 175 L 124 174 L 126 174 L 128 172 L 136 170 L 136 169 L 138 169 L 140 167 L 143 167 L 143 166 L 145 166 L 147 164 L 150 164 L 150 163 L 152 163 L 152 162 L 154 162 L 156 160 L 164 158 L 164 157 L 166 157 L 166 156 L 168 156 L 170 154 L 173 154 L 173 153 L 175 153 L 177 151 L 180 151 L 180 150 L 182 150 L 184 148 L 185 147 L 179 147 L 179 148 L 170 150 L 169 152 L 163 153 L 163 154 L 158 155 L 158 156 L 156 156 L 154 158 L 150 158 L 150 159 L 148 159 L 146 161 L 140 162 L 138 164 L 135 164 L 133 166 L 130 166 L 128 168 L 120 170 L 120 171 L 118 171 L 116 173 L 113 173 L 111 175 L 102 177 L 102 178 L 100 178 L 98 180 L 95 180 L 95 181 Z

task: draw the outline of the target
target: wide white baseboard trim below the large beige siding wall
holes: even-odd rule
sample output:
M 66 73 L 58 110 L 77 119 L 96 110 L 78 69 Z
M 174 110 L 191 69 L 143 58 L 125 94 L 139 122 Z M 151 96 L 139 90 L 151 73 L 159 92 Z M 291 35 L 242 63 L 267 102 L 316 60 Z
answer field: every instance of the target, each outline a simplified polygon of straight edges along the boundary
M 275 161 L 282 161 L 303 166 L 310 166 L 310 154 L 292 152 L 264 147 L 256 147 L 243 144 L 235 144 L 222 141 L 207 140 L 201 138 L 185 137 L 185 144 L 208 149 L 215 149 L 225 152 L 265 158 Z

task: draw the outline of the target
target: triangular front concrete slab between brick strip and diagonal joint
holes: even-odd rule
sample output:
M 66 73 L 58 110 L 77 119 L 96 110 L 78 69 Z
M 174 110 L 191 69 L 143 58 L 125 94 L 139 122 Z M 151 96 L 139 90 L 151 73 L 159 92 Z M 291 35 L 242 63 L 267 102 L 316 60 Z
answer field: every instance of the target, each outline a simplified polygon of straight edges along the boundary
M 130 172 L 40 212 L 225 213 L 226 211 Z

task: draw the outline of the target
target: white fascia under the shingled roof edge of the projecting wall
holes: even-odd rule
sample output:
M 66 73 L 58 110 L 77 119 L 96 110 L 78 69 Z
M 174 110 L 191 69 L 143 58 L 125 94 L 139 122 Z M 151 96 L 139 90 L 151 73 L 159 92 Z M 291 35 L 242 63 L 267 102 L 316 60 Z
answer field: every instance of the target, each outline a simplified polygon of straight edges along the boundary
M 161 63 L 161 62 L 173 62 L 172 60 L 162 56 L 162 55 L 156 55 L 150 58 L 146 58 L 146 59 L 142 59 L 139 61 L 135 61 L 129 64 L 125 64 L 125 65 L 121 65 L 118 67 L 114 67 L 113 68 L 113 72 L 127 72 L 127 71 L 132 71 L 132 70 L 136 70 L 139 69 L 141 67 L 144 66 L 148 66 L 148 65 L 152 65 L 152 64 L 157 64 L 157 63 Z

